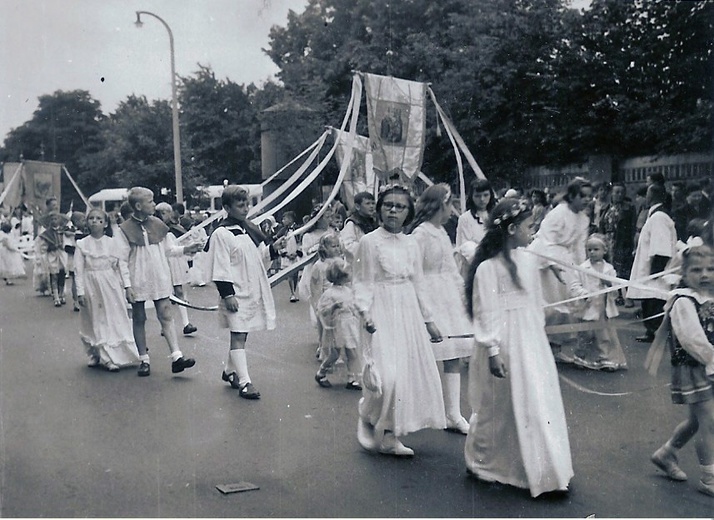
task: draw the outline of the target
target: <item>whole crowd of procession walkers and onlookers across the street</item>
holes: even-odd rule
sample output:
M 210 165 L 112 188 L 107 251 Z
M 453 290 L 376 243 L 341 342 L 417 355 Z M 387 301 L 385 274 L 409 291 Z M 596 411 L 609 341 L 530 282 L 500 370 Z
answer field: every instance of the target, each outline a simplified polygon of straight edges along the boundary
M 320 362 L 316 383 L 332 387 L 329 374 L 344 361 L 344 384 L 361 391 L 363 449 L 409 457 L 414 451 L 404 436 L 447 429 L 466 436 L 465 462 L 476 478 L 536 497 L 567 492 L 573 477 L 556 363 L 626 370 L 613 319 L 619 308 L 639 302 L 645 334 L 637 340 L 654 342 L 654 349 L 660 337 L 671 339 L 672 400 L 690 410 L 652 462 L 685 480 L 676 453 L 695 438 L 698 489 L 714 496 L 708 179 L 674 183 L 668 191 L 653 174 L 634 201 L 622 183 L 576 178 L 560 194 L 511 188 L 497 196 L 477 179 L 461 215 L 446 184 L 418 197 L 387 184 L 376 197 L 358 193 L 349 213 L 341 203 L 316 205 L 305 220 L 315 224 L 301 235 L 292 211 L 280 225 L 273 217 L 255 225 L 247 218 L 248 192 L 228 185 L 227 218 L 209 237 L 190 240 L 179 208 L 157 205 L 153 196 L 132 188 L 121 223 L 98 209 L 67 218 L 51 201 L 41 219 L 35 286 L 62 306 L 65 279 L 72 280 L 90 366 L 117 371 L 138 364 L 139 376 L 150 375 L 148 301 L 172 372 L 194 366 L 180 350 L 170 296 L 183 299 L 190 271 L 198 269 L 200 279 L 215 285 L 218 325 L 230 333 L 221 379 L 240 397 L 259 399 L 246 342 L 249 332 L 276 327 L 268 276 L 289 272 L 289 301 L 309 303 Z M 23 274 L 13 245 L 22 221 L 13 218 L 2 222 L 0 236 L 6 283 Z M 313 253 L 314 263 L 301 263 Z M 43 276 L 45 285 L 38 281 Z M 179 308 L 183 333 L 195 332 Z

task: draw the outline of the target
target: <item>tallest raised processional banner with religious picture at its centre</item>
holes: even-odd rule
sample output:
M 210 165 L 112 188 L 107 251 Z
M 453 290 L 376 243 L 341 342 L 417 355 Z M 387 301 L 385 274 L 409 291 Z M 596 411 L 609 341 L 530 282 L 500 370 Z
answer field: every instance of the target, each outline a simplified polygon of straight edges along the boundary
M 382 182 L 411 184 L 424 156 L 426 84 L 364 76 L 374 172 Z

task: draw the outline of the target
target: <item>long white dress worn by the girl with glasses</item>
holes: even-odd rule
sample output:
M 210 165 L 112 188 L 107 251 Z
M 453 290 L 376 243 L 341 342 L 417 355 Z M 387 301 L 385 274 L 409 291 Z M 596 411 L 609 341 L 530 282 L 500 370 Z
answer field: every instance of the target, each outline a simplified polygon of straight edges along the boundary
M 361 417 L 378 438 L 384 430 L 397 437 L 422 428 L 446 428 L 441 380 L 424 323 L 431 321 L 423 288 L 419 245 L 412 236 L 379 228 L 359 242 L 353 287 L 360 312 L 377 331 L 364 346 L 373 360 L 382 393 L 363 390 Z

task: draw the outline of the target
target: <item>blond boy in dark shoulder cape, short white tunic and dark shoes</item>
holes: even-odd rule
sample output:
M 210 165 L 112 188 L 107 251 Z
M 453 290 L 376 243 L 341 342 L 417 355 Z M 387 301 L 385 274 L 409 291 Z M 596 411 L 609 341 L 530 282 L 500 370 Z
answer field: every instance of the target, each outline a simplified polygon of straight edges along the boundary
M 171 372 L 177 374 L 196 364 L 192 358 L 184 358 L 178 345 L 174 327 L 173 310 L 169 296 L 173 291 L 171 271 L 167 256 L 181 256 L 198 251 L 200 244 L 171 246 L 166 240 L 169 228 L 154 217 L 156 203 L 154 192 L 147 188 L 134 187 L 129 190 L 131 216 L 121 223 L 117 237 L 122 261 L 129 264 L 131 288 L 128 300 L 131 303 L 131 317 L 134 341 L 139 349 L 141 364 L 137 375 L 151 375 L 151 364 L 146 348 L 145 302 L 152 300 L 156 317 L 161 324 L 161 332 L 171 352 Z

